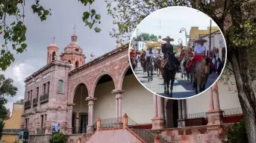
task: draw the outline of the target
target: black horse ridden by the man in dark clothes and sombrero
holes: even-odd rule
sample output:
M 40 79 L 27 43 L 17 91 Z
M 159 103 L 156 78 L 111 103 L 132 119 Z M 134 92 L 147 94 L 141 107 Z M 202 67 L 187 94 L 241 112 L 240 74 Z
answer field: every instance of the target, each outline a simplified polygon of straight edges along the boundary
M 172 98 L 173 83 L 175 81 L 175 75 L 178 71 L 178 59 L 175 57 L 175 53 L 167 53 L 166 60 L 163 61 L 163 83 L 164 83 L 164 94 L 169 95 Z M 169 92 L 169 83 L 171 82 Z

